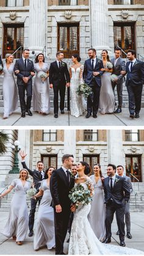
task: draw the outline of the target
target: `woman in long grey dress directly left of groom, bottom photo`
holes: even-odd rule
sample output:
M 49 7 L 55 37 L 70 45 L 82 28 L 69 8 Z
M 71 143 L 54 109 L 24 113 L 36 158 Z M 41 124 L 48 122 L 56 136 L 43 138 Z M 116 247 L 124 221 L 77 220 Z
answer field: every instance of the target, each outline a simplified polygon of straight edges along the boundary
M 54 209 L 50 206 L 52 197 L 49 189 L 49 180 L 54 167 L 49 167 L 45 172 L 45 180 L 41 181 L 40 191 L 34 199 L 43 196 L 38 208 L 36 231 L 34 236 L 34 249 L 38 251 L 40 247 L 47 246 L 48 249 L 55 247 L 54 233 Z

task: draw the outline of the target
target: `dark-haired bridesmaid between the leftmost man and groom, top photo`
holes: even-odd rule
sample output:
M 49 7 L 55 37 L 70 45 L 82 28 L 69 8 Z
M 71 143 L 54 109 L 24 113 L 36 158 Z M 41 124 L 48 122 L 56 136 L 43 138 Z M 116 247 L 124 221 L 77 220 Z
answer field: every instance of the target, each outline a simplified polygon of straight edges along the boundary
M 48 64 L 45 63 L 43 53 L 38 54 L 36 57 L 34 67 L 37 75 L 35 76 L 33 87 L 33 108 L 34 111 L 39 112 L 39 114 L 48 115 L 50 111 L 48 78 L 44 78 L 43 81 L 41 81 L 40 77 L 38 77 L 41 71 L 48 75 Z

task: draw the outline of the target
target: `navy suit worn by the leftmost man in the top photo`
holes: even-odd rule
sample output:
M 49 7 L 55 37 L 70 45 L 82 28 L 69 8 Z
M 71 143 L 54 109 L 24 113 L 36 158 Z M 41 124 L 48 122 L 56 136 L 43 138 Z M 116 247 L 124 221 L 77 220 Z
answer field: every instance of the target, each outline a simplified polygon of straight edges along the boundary
M 17 76 L 18 93 L 20 97 L 21 112 L 26 112 L 31 109 L 32 100 L 32 76 L 31 72 L 35 72 L 34 63 L 32 60 L 27 59 L 27 67 L 24 65 L 23 58 L 16 60 L 15 70 L 20 70 Z M 29 77 L 29 81 L 24 83 L 23 78 Z M 25 101 L 25 90 L 27 92 L 27 102 Z

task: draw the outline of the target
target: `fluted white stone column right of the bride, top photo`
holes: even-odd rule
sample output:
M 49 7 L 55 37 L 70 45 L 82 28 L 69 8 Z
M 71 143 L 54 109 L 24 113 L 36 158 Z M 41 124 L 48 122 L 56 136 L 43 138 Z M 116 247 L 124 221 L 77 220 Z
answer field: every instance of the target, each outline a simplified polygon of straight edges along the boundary
M 108 38 L 108 3 L 107 0 L 90 0 L 90 33 L 91 46 L 101 56 L 101 51 L 107 49 L 110 53 Z

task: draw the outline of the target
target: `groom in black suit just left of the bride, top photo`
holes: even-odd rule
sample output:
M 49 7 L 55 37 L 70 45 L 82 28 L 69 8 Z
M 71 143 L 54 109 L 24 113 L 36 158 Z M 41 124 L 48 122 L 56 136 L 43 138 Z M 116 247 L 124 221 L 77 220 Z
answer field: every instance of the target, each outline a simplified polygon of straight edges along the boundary
M 57 60 L 52 62 L 49 68 L 49 86 L 54 90 L 54 117 L 58 117 L 59 112 L 59 93 L 60 93 L 60 111 L 65 114 L 65 89 L 70 86 L 70 74 L 67 63 L 63 62 L 63 53 L 56 54 Z

